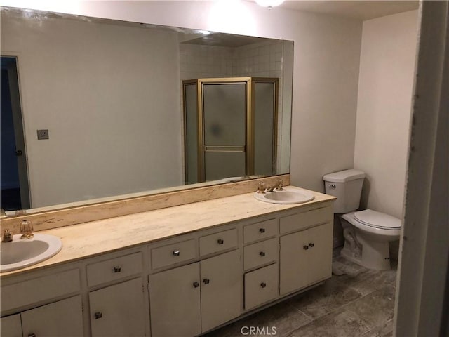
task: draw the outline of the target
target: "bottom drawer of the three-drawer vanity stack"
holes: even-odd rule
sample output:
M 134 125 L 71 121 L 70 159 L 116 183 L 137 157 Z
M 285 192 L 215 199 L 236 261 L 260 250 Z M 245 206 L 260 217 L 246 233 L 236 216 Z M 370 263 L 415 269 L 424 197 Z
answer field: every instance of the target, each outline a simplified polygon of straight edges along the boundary
M 279 267 L 268 265 L 245 274 L 245 309 L 251 309 L 278 296 Z

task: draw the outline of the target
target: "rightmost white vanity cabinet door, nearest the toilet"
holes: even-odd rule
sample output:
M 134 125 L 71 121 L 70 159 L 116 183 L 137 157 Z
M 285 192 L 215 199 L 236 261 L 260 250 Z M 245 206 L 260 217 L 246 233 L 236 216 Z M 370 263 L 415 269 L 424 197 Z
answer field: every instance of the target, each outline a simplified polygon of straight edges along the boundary
M 309 284 L 332 276 L 333 227 L 326 223 L 307 230 L 309 235 Z

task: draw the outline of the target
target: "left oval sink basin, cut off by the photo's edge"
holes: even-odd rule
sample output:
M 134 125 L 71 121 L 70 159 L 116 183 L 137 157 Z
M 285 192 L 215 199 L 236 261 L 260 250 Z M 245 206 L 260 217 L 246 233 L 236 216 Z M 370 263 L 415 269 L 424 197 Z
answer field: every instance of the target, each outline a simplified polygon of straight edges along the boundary
M 35 265 L 51 258 L 62 249 L 59 237 L 48 234 L 34 234 L 32 239 L 20 239 L 13 236 L 12 242 L 0 243 L 0 272 L 9 272 Z

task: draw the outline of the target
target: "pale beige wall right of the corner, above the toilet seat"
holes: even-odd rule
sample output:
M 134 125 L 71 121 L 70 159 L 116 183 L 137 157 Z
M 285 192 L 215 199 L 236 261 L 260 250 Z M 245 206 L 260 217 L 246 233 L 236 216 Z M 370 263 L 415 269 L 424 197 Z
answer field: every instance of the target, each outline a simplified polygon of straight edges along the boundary
M 402 218 L 415 71 L 417 11 L 363 22 L 354 167 L 363 208 Z

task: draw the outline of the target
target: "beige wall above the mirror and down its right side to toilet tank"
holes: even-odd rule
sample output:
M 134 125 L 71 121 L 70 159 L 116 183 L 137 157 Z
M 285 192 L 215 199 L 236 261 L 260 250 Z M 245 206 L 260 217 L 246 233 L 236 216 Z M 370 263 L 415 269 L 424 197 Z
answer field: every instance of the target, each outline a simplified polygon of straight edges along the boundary
M 226 5 L 228 3 L 228 5 Z M 294 41 L 292 183 L 323 191 L 323 174 L 354 164 L 361 22 L 240 1 L 65 1 L 4 6 Z M 221 7 L 220 7 L 221 6 Z M 179 96 L 178 96 L 179 97 Z

